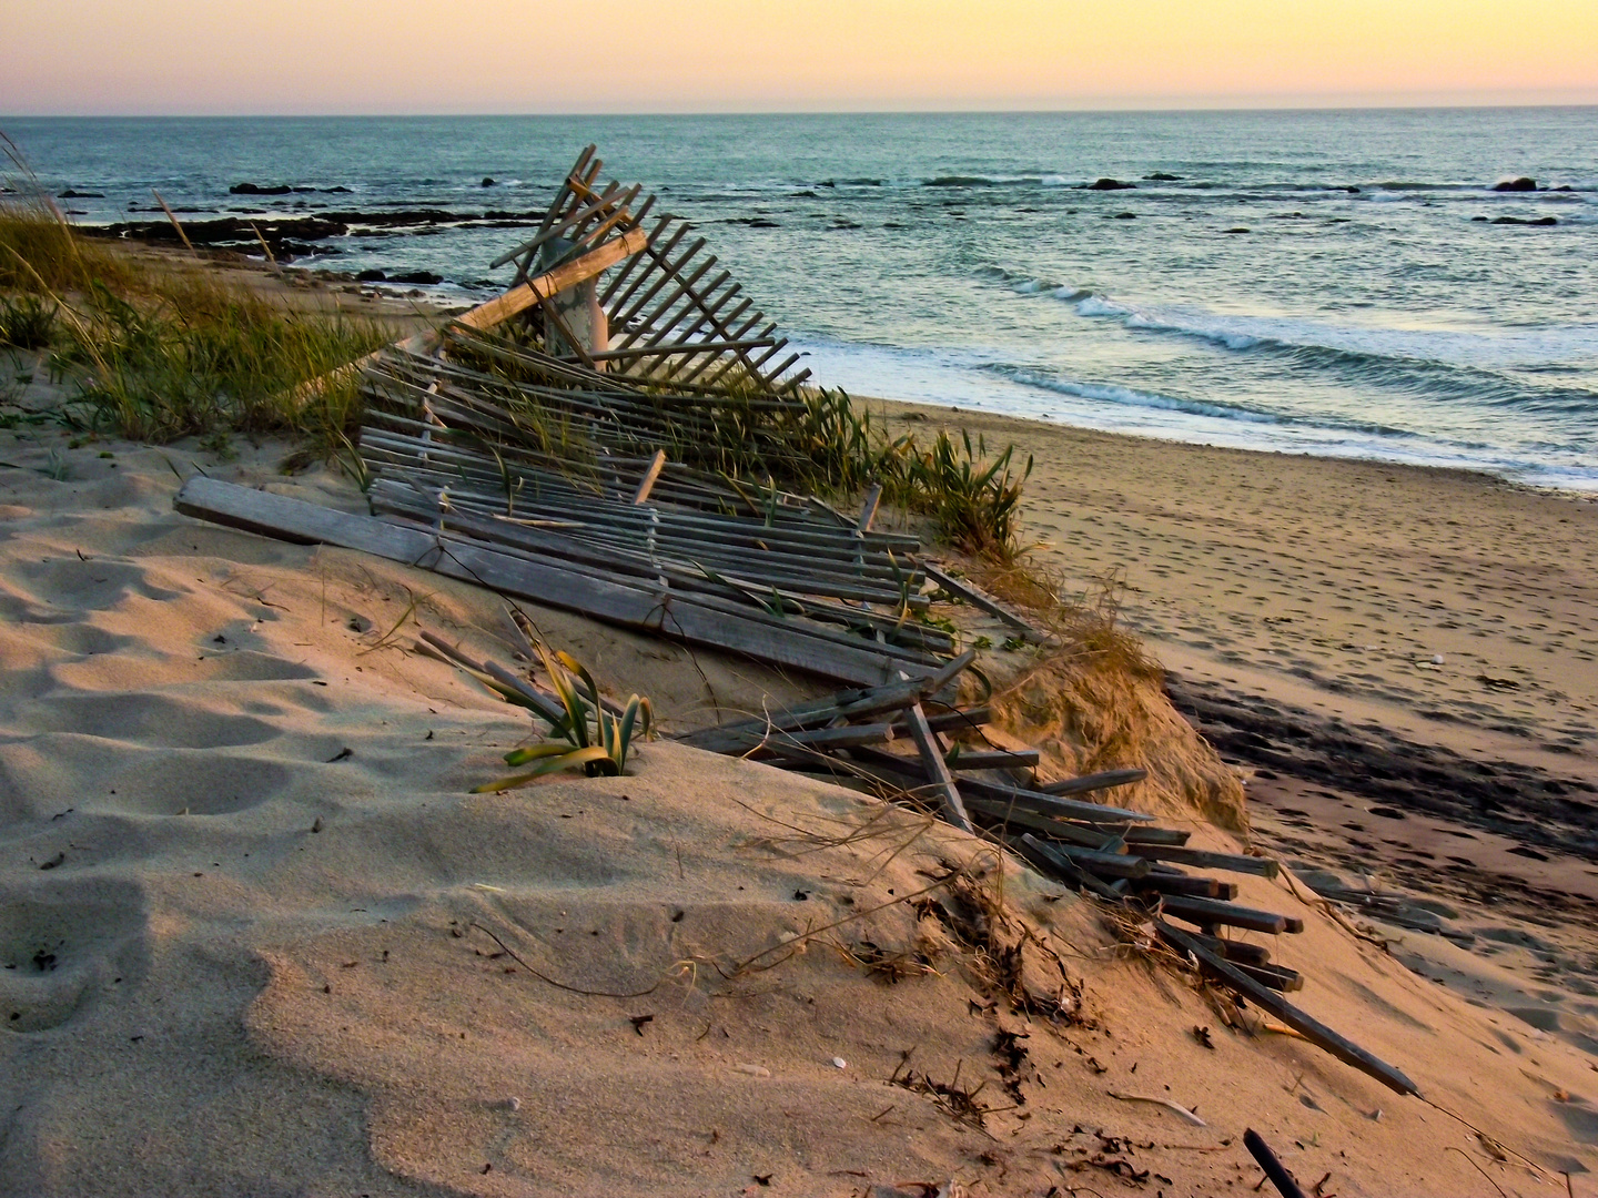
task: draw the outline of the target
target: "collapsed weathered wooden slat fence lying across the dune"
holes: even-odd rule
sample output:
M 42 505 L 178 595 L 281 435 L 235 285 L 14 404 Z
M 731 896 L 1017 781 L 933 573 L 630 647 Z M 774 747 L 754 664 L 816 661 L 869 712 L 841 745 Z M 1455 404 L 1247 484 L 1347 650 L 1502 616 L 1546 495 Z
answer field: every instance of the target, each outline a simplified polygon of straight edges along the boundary
M 1042 874 L 1151 920 L 1240 998 L 1417 1093 L 1283 997 L 1301 974 L 1226 934 L 1296 933 L 1301 920 L 1238 906 L 1235 883 L 1189 872 L 1274 877 L 1277 863 L 1191 848 L 1186 831 L 1082 797 L 1138 781 L 1139 770 L 1048 783 L 1037 778 L 1037 751 L 946 740 L 980 733 L 991 712 L 957 704 L 956 680 L 975 652 L 956 657 L 954 636 L 919 620 L 927 588 L 981 607 L 1024 641 L 1047 636 L 922 561 L 914 537 L 874 530 L 874 494 L 852 519 L 770 481 L 802 465 L 791 434 L 805 415 L 807 372 L 786 374 L 797 356 L 780 356 L 786 342 L 751 315 L 727 272 L 710 276 L 716 259 L 700 257 L 703 238 L 689 241 L 670 214 L 646 225 L 655 196 L 598 188 L 599 168 L 588 147 L 539 232 L 495 262 L 516 264 L 505 294 L 360 363 L 358 452 L 372 514 L 203 476 L 184 484 L 179 511 L 850 684 L 681 740 L 919 797 Z M 499 685 L 540 695 L 503 666 L 428 642 Z M 904 744 L 912 751 L 895 751 Z

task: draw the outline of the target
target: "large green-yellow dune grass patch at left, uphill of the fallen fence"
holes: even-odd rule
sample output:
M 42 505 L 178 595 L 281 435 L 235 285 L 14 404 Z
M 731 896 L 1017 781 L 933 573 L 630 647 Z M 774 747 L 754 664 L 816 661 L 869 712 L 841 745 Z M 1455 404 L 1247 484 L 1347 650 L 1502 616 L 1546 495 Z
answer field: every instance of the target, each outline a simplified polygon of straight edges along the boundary
M 395 331 L 296 311 L 182 265 L 147 264 L 85 238 L 0 134 L 13 195 L 0 196 L 0 343 L 48 350 L 72 385 L 70 415 L 134 441 L 272 431 L 332 455 L 358 423 L 356 377 L 304 388 Z

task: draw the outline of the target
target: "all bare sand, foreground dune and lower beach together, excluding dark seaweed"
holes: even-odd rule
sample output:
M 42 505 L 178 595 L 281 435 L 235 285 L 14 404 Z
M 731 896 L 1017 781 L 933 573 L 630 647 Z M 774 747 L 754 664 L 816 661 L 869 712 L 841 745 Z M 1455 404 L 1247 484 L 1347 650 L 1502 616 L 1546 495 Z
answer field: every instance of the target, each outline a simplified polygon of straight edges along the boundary
M 1178 703 L 1227 700 L 1200 728 L 1266 704 L 1280 736 L 1320 720 L 1374 746 L 1376 724 L 1400 756 L 1592 778 L 1592 503 L 960 419 L 1037 455 L 1040 561 L 1122 572 Z M 1365 853 L 1352 779 L 1162 733 L 1192 778 L 1246 778 L 1256 847 L 1317 885 L 1346 853 L 1350 887 L 1424 899 L 1441 874 L 1401 863 L 1449 829 L 1481 877 L 1523 880 L 1512 910 L 1456 901 L 1443 938 L 1237 879 L 1306 920 L 1272 942 L 1306 970 L 1296 998 L 1437 1105 L 1400 1099 L 1087 899 L 853 791 L 657 743 L 631 776 L 468 795 L 527 722 L 411 634 L 507 655 L 502 604 L 173 511 L 197 468 L 361 506 L 334 471 L 280 474 L 284 444 L 240 449 L 0 433 L 0 1193 L 1218 1195 L 1259 1179 L 1248 1126 L 1323 1195 L 1486 1193 L 1481 1171 L 1585 1192 L 1592 855 L 1534 861 L 1430 813 Z M 532 612 L 668 728 L 825 688 Z M 1186 802 L 1194 843 L 1240 847 L 1197 791 L 1155 799 Z M 920 902 L 951 867 L 1029 946 L 1020 992 L 959 902 Z M 1425 976 L 1445 968 L 1470 984 Z M 981 1088 L 975 1112 L 951 1085 Z

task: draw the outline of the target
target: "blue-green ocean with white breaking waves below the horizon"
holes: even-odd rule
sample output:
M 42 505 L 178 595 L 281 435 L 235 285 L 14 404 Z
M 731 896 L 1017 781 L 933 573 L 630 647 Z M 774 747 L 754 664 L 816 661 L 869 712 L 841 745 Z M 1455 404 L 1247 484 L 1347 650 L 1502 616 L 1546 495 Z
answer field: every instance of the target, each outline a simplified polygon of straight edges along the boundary
M 1598 490 L 1598 109 L 0 129 L 83 224 L 150 219 L 152 187 L 185 220 L 526 211 L 596 142 L 606 177 L 698 224 L 821 383 Z M 1537 190 L 1494 190 L 1515 177 Z M 476 299 L 516 240 L 358 228 L 294 265 L 427 270 Z

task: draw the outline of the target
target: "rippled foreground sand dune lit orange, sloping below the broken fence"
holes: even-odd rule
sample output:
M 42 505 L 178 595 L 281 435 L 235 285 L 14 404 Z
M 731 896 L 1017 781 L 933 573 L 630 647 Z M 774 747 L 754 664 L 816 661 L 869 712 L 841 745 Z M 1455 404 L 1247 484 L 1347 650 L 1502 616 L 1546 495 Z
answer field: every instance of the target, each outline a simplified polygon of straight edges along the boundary
M 360 503 L 280 455 L 200 465 Z M 177 516 L 189 450 L 0 458 L 3 1195 L 1211 1195 L 1259 1177 L 1245 1126 L 1326 1193 L 1486 1192 L 1470 1161 L 1547 1192 L 912 811 L 666 743 L 468 795 L 529 724 L 406 645 L 507 655 L 492 596 Z M 534 615 L 676 727 L 813 690 Z M 1598 1166 L 1590 1059 L 1306 917 L 1274 946 L 1306 1008 L 1544 1168 Z

